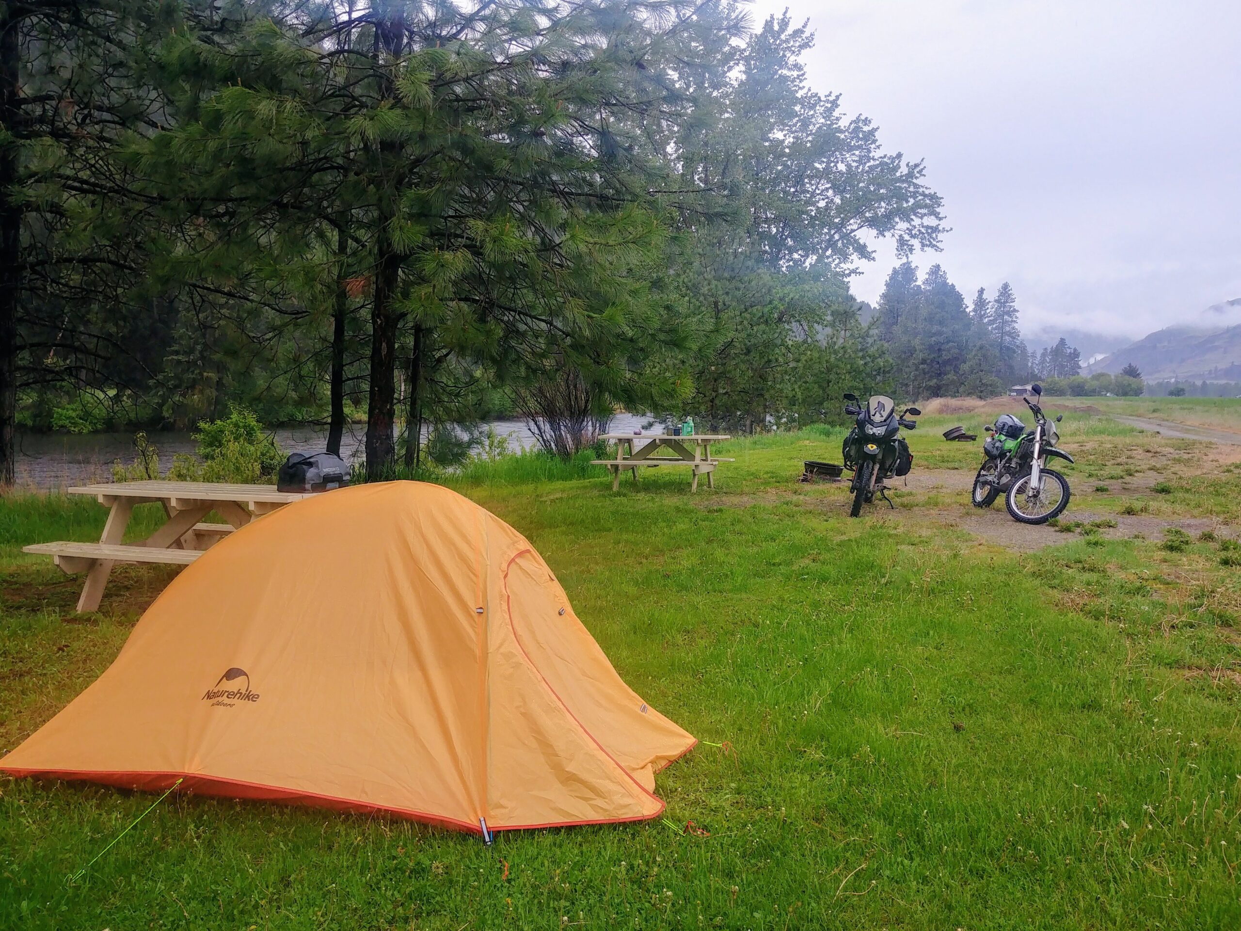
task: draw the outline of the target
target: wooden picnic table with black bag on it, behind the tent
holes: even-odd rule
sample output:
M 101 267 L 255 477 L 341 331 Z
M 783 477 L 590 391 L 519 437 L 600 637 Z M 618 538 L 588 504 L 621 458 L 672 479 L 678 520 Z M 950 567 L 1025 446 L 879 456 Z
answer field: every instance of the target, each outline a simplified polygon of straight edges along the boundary
M 115 562 L 166 562 L 185 566 L 211 544 L 237 528 L 308 493 L 277 492 L 274 485 L 240 485 L 222 482 L 115 482 L 69 488 L 69 494 L 97 498 L 110 510 L 99 542 L 57 541 L 24 546 L 24 552 L 51 556 L 67 573 L 86 572 L 77 609 L 94 611 L 103 598 Z M 158 501 L 168 521 L 145 540 L 123 544 L 135 504 Z M 200 523 L 211 511 L 227 524 Z

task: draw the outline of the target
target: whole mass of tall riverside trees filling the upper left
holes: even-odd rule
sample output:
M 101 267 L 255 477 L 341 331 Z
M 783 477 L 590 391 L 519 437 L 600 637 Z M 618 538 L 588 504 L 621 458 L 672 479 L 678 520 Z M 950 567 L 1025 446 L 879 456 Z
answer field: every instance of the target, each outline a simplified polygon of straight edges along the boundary
M 922 165 L 727 1 L 0 0 L 0 483 L 14 433 L 232 402 L 819 420 L 892 365 L 848 276 L 937 248 Z

